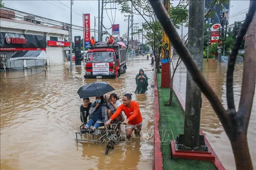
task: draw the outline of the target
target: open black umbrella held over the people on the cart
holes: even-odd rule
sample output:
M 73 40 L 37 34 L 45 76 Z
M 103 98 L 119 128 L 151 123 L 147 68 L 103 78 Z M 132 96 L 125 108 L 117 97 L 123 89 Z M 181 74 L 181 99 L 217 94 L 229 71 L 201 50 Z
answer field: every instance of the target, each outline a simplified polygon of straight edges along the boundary
M 94 83 L 82 86 L 77 91 L 77 93 L 79 94 L 80 99 L 82 99 L 85 97 L 102 96 L 113 90 L 114 88 L 112 86 L 102 81 L 102 82 L 94 82 Z

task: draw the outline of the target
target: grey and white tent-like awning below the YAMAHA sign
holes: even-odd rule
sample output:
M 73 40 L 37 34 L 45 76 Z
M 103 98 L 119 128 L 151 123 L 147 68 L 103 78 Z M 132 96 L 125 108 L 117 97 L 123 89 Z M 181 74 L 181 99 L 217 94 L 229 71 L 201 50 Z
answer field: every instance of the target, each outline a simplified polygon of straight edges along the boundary
M 14 53 L 10 60 L 20 59 L 49 59 L 48 54 L 44 50 L 33 50 L 33 51 L 17 51 Z

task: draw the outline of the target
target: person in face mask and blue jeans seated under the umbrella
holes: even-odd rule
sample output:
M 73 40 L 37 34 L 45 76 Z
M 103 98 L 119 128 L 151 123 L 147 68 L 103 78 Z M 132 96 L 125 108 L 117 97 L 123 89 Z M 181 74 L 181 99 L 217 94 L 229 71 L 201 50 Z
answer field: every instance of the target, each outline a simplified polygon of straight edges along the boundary
M 92 134 L 98 127 L 103 126 L 104 122 L 107 122 L 107 102 L 105 102 L 106 96 L 97 96 L 95 102 L 90 106 L 89 121 L 85 124 L 84 132 Z M 102 123 L 99 123 L 102 122 Z M 93 125 L 92 129 L 90 126 Z

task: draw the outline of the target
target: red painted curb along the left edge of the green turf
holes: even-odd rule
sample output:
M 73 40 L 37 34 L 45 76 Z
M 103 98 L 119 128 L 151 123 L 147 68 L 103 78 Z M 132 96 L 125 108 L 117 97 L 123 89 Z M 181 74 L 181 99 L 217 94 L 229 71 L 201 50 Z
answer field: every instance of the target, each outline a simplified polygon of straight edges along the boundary
M 154 71 L 154 170 L 162 170 L 163 169 L 163 159 L 162 159 L 162 152 L 161 152 L 161 140 L 160 135 L 158 132 L 158 125 L 159 125 L 159 101 L 158 101 L 158 92 L 157 92 L 157 81 L 156 81 L 156 71 Z

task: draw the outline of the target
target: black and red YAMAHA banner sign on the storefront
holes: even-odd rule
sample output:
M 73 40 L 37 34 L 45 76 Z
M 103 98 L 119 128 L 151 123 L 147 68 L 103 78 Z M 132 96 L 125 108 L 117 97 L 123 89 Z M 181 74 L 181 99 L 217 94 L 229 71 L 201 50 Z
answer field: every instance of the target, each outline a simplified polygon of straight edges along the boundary
M 46 36 L 0 33 L 1 48 L 46 48 Z

